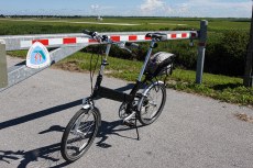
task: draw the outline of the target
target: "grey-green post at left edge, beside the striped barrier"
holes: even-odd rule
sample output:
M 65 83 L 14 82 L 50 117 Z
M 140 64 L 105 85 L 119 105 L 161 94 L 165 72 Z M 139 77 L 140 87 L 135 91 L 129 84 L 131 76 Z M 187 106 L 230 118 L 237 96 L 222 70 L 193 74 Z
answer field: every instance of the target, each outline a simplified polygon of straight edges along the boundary
M 8 86 L 6 42 L 0 40 L 0 88 Z

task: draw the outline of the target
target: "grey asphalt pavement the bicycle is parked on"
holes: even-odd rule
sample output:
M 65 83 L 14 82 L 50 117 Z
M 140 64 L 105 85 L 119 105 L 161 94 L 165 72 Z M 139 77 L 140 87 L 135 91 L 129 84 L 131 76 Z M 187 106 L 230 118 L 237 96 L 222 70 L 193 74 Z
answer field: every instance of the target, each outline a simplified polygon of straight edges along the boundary
M 9 59 L 14 63 L 16 59 Z M 105 78 L 103 86 L 125 81 Z M 253 168 L 253 110 L 167 89 L 165 109 L 152 125 L 121 125 L 119 102 L 101 99 L 102 126 L 88 153 L 67 165 L 59 154 L 64 127 L 90 94 L 89 76 L 57 69 L 0 93 L 0 167 Z

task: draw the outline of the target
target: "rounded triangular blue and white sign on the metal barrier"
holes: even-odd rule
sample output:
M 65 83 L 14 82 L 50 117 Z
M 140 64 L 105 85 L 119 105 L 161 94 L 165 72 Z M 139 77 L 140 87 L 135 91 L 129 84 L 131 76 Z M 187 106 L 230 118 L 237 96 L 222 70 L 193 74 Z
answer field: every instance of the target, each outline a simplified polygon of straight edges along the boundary
M 26 56 L 26 66 L 34 69 L 48 67 L 51 56 L 47 48 L 40 42 L 35 42 L 29 49 Z

